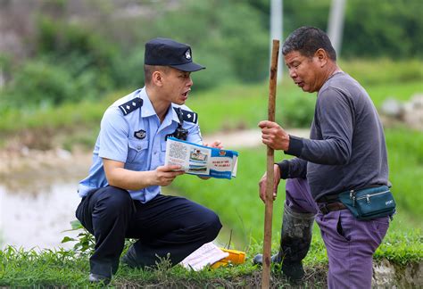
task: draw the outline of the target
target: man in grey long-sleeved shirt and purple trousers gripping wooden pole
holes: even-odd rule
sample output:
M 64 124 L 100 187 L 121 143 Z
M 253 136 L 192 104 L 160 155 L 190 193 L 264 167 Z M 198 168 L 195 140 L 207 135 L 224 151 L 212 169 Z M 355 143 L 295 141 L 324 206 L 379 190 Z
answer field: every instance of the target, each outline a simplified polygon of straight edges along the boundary
M 280 248 L 272 261 L 282 263 L 287 277 L 301 279 L 316 219 L 328 252 L 328 287 L 370 288 L 373 253 L 386 235 L 389 217 L 354 219 L 338 194 L 388 185 L 377 110 L 365 89 L 336 64 L 336 52 L 322 30 L 296 29 L 282 53 L 294 83 L 318 94 L 310 139 L 288 135 L 275 122 L 259 123 L 263 144 L 295 156 L 274 166 L 274 196 L 280 178 L 288 180 Z M 260 181 L 263 201 L 265 184 L 266 175 Z

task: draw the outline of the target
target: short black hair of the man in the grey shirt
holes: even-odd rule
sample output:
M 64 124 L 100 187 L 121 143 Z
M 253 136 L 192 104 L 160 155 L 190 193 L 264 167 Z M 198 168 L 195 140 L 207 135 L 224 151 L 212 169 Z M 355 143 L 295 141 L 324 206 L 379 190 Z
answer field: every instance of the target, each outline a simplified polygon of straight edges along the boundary
M 282 46 L 282 54 L 286 55 L 293 51 L 298 51 L 304 56 L 311 57 L 319 49 L 324 49 L 331 60 L 336 62 L 336 51 L 328 35 L 321 29 L 315 27 L 302 27 L 294 30 L 289 37 L 286 38 Z

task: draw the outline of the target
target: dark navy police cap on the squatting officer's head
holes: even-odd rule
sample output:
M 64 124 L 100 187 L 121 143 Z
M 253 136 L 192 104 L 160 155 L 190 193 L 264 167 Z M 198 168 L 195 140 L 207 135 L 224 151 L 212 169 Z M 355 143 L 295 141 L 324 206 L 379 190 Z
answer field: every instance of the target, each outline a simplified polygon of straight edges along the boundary
M 202 65 L 193 62 L 189 45 L 168 38 L 154 38 L 145 44 L 144 63 L 170 66 L 188 72 L 205 69 Z

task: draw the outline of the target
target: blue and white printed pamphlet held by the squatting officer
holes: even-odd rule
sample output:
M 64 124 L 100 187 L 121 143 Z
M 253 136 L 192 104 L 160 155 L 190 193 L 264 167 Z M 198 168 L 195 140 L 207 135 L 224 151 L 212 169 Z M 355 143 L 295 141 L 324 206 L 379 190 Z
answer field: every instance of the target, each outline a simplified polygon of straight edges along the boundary
M 169 137 L 165 165 L 180 165 L 188 174 L 211 177 L 236 177 L 238 153 L 219 148 L 196 145 Z

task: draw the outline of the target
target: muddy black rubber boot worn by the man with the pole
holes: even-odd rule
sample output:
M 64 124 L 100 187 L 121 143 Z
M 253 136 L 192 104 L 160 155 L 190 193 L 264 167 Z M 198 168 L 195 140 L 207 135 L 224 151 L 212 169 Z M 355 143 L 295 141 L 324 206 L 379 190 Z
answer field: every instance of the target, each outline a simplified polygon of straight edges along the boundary
M 271 257 L 272 263 L 281 263 L 281 270 L 293 281 L 304 277 L 302 260 L 309 252 L 314 214 L 297 212 L 285 204 L 279 252 Z M 263 256 L 254 257 L 254 264 L 262 264 Z

